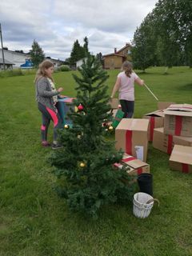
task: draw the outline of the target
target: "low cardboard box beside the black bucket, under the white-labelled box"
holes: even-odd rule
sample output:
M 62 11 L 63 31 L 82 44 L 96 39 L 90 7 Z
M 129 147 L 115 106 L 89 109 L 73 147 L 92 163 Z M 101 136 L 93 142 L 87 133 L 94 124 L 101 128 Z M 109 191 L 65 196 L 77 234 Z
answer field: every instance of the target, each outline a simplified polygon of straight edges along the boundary
M 125 166 L 128 169 L 127 173 L 130 175 L 150 173 L 150 165 L 134 158 L 130 154 L 123 154 L 122 161 L 120 163 L 114 163 L 114 166 L 119 169 L 122 169 L 122 167 Z

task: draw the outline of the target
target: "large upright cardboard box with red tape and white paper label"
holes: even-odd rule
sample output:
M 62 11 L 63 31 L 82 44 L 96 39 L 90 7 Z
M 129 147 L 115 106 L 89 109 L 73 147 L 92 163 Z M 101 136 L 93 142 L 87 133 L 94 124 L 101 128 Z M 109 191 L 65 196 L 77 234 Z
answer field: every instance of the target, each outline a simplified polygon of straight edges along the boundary
M 115 130 L 116 149 L 146 162 L 148 150 L 147 131 L 149 120 L 122 118 Z

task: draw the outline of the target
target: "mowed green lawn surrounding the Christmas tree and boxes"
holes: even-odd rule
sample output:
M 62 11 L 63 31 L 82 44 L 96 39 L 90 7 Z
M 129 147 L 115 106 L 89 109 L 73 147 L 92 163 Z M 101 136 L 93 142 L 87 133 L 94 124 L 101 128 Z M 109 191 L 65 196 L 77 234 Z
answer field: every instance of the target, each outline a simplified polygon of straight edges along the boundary
M 188 67 L 174 67 L 167 75 L 163 67 L 146 71 L 138 74 L 159 101 L 192 104 Z M 109 71 L 109 95 L 118 72 Z M 75 96 L 71 73 L 54 78 L 63 94 Z M 154 206 L 149 218 L 135 218 L 131 204 L 103 207 L 97 221 L 67 209 L 54 192 L 47 162 L 51 150 L 40 145 L 33 80 L 34 75 L 0 78 L 0 255 L 192 255 L 192 175 L 170 170 L 169 155 L 151 144 L 147 162 L 160 206 Z M 135 86 L 134 118 L 156 109 L 148 90 Z

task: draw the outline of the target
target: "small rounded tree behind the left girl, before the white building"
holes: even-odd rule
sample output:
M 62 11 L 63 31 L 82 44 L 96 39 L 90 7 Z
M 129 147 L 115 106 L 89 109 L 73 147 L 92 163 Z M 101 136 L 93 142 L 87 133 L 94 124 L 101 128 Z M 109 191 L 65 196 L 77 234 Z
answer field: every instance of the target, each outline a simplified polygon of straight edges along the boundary
M 45 54 L 43 53 L 42 48 L 35 40 L 32 44 L 32 50 L 30 50 L 30 58 L 31 62 L 34 64 L 34 67 L 38 67 L 38 65 L 45 59 Z

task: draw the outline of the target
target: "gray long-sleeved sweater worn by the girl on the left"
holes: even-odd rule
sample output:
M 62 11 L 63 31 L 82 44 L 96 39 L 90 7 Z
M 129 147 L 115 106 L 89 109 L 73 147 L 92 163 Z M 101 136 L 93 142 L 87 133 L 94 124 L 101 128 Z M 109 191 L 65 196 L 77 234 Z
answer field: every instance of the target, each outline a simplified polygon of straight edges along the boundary
M 38 79 L 38 81 L 35 83 L 35 93 L 37 102 L 56 112 L 53 96 L 58 95 L 59 92 L 51 90 L 50 82 L 47 78 L 42 77 Z

